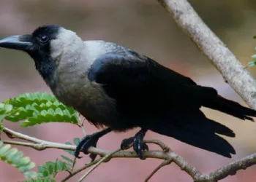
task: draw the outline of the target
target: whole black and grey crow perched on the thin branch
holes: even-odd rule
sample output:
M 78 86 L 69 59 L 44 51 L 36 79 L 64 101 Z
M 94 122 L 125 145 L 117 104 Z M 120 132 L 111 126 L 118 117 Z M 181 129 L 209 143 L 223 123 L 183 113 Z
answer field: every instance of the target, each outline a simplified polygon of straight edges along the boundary
M 234 147 L 221 135 L 235 138 L 230 127 L 209 119 L 201 108 L 254 122 L 256 111 L 197 84 L 157 60 L 110 41 L 86 40 L 61 25 L 40 25 L 31 34 L 7 36 L 0 47 L 26 52 L 56 98 L 71 106 L 98 132 L 86 135 L 74 151 L 89 154 L 109 132 L 140 130 L 121 141 L 146 159 L 146 132 L 175 138 L 231 158 Z M 97 155 L 90 154 L 91 161 Z

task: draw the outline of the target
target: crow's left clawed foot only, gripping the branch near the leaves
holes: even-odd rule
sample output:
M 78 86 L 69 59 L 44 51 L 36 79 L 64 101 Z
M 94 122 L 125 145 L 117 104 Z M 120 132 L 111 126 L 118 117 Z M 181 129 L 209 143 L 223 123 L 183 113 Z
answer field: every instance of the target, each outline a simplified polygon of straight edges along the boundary
M 95 134 L 92 135 L 87 135 L 86 137 L 84 137 L 80 143 L 78 143 L 77 148 L 75 149 L 75 157 L 77 157 L 78 159 L 82 158 L 79 156 L 80 151 L 83 151 L 83 154 L 89 154 L 88 149 L 93 146 L 96 147 L 97 146 L 97 142 L 99 141 L 99 137 Z M 94 159 L 97 157 L 96 154 L 90 154 L 90 158 L 91 158 L 91 162 L 94 161 Z

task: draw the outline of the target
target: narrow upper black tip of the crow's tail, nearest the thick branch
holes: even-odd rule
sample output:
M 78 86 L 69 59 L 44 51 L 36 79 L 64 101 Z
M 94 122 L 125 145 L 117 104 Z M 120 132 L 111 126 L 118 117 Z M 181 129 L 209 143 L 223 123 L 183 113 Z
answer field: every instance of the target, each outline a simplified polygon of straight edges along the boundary
M 241 106 L 239 103 L 236 103 L 233 100 L 227 100 L 226 98 L 222 98 L 222 96 L 219 95 L 217 96 L 217 98 L 206 100 L 203 103 L 203 106 L 222 111 L 239 119 L 248 119 L 252 122 L 254 121 L 254 119 L 250 116 L 256 116 L 255 110 Z

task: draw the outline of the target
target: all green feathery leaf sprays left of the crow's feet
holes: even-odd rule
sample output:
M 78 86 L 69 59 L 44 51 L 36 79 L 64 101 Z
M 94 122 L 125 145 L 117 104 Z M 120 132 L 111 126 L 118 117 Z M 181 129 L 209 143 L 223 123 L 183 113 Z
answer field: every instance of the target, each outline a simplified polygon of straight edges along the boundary
M 67 122 L 78 125 L 79 114 L 74 108 L 65 106 L 54 95 L 42 92 L 25 93 L 10 98 L 0 103 L 0 133 L 4 130 L 3 119 L 10 122 L 21 122 L 21 127 L 31 127 L 48 122 Z M 78 145 L 80 139 L 74 138 L 73 142 Z M 73 145 L 70 142 L 66 144 Z M 64 150 L 71 154 L 74 159 L 61 155 L 64 161 L 59 159 L 56 162 L 46 162 L 37 167 L 37 173 L 29 171 L 35 166 L 30 162 L 29 157 L 23 157 L 23 153 L 18 149 L 10 149 L 10 145 L 3 146 L 0 141 L 1 160 L 18 168 L 25 176 L 26 182 L 55 182 L 57 173 L 66 171 L 71 173 L 75 165 L 73 151 Z M 8 149 L 10 149 L 8 151 Z M 28 179 L 29 178 L 29 179 Z

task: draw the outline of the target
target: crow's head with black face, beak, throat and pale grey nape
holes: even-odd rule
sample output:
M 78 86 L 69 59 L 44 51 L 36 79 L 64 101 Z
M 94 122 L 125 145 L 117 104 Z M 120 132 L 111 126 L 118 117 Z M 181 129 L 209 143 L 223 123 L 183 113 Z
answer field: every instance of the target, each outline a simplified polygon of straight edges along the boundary
M 0 47 L 21 50 L 34 59 L 39 74 L 51 79 L 62 55 L 72 58 L 83 47 L 83 41 L 75 32 L 59 25 L 42 25 L 31 34 L 8 36 L 0 40 Z M 47 80 L 45 80 L 47 81 Z

